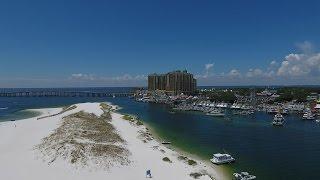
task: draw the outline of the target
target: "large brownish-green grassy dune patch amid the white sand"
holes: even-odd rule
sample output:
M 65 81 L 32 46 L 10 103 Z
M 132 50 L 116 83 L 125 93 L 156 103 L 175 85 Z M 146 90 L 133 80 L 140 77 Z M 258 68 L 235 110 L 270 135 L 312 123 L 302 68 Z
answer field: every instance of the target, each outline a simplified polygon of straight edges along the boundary
M 129 151 L 119 144 L 125 143 L 109 122 L 109 111 L 100 117 L 80 111 L 62 119 L 62 124 L 35 146 L 49 164 L 57 158 L 72 164 L 86 165 L 87 161 L 97 160 L 100 165 L 110 167 L 109 162 L 128 164 Z

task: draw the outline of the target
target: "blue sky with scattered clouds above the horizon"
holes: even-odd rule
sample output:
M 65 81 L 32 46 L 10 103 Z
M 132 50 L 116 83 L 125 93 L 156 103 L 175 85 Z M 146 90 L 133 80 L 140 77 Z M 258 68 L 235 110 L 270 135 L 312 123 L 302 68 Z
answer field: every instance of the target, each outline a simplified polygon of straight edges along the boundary
M 0 2 L 0 87 L 319 84 L 318 1 Z

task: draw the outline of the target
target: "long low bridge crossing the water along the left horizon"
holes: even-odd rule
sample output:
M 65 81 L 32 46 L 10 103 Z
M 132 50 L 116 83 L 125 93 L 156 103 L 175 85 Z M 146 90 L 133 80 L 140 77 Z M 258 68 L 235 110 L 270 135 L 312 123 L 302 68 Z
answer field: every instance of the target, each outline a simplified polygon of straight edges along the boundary
M 0 97 L 129 97 L 133 92 L 18 91 L 0 92 Z

